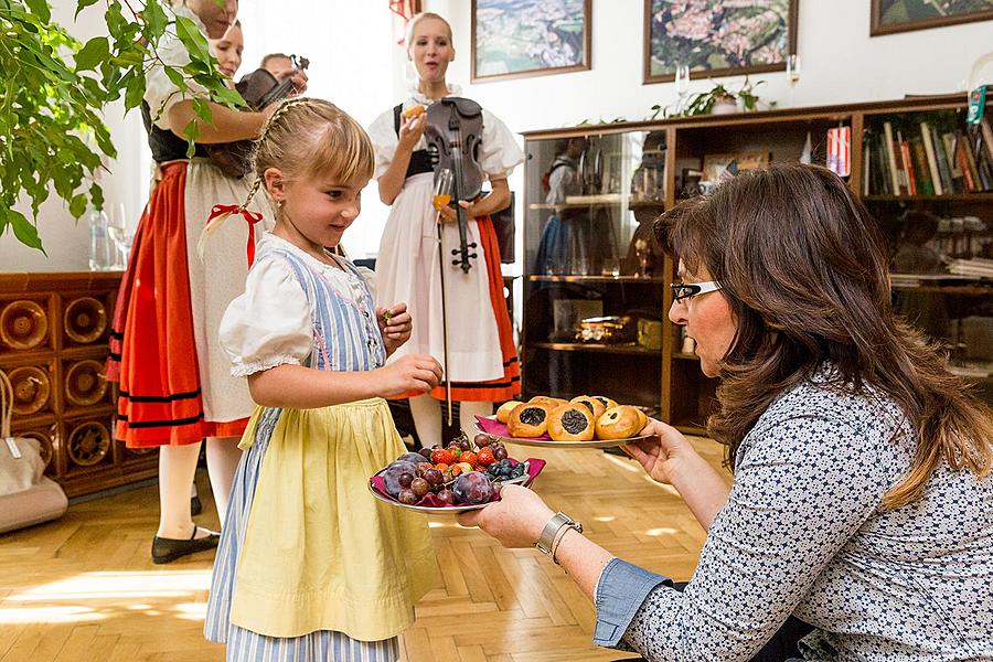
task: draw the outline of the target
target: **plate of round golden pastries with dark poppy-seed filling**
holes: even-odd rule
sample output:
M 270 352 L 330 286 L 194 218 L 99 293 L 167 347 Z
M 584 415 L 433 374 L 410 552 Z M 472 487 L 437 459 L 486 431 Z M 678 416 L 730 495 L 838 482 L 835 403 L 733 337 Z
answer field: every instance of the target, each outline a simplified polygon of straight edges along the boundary
M 494 416 L 477 416 L 479 428 L 503 441 L 548 448 L 611 448 L 650 438 L 644 412 L 602 395 L 570 401 L 537 395 L 510 401 Z

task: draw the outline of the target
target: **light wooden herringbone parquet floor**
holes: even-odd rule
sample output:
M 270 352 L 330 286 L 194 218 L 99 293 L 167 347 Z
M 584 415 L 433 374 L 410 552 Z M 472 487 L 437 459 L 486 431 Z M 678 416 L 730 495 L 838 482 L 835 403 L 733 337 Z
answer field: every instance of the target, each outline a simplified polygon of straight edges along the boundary
M 716 466 L 720 449 L 694 441 Z M 510 447 L 548 466 L 535 488 L 618 556 L 675 579 L 704 532 L 674 491 L 599 450 Z M 217 525 L 205 476 L 199 523 Z M 156 566 L 154 485 L 76 503 L 61 520 L 0 535 L 0 662 L 215 662 L 203 639 L 213 552 Z M 417 606 L 407 662 L 586 662 L 626 655 L 592 645 L 594 608 L 534 549 L 504 549 L 433 516 L 442 583 Z

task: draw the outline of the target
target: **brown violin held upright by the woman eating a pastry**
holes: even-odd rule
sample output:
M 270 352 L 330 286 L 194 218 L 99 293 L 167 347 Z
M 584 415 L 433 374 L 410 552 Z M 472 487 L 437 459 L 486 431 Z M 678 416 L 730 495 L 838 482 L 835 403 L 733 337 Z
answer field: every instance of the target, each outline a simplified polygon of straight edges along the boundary
M 472 268 L 470 259 L 477 259 L 477 244 L 469 242 L 469 220 L 460 200 L 472 202 L 482 193 L 483 172 L 479 164 L 479 147 L 482 141 L 482 108 L 472 99 L 445 97 L 427 109 L 427 126 L 424 129 L 435 172 L 449 169 L 452 172 L 451 202 L 459 218 L 459 247 L 452 248 L 455 259 L 462 273 Z

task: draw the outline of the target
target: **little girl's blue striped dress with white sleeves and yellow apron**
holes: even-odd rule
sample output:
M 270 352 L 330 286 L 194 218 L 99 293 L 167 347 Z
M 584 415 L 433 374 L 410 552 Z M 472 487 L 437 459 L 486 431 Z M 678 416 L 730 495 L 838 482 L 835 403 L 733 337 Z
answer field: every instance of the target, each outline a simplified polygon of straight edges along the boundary
M 233 374 L 383 365 L 369 287 L 354 265 L 330 259 L 340 268 L 261 239 L 221 324 Z M 241 448 L 206 638 L 226 642 L 228 660 L 396 660 L 437 565 L 426 520 L 367 491 L 369 477 L 404 452 L 386 402 L 258 407 Z

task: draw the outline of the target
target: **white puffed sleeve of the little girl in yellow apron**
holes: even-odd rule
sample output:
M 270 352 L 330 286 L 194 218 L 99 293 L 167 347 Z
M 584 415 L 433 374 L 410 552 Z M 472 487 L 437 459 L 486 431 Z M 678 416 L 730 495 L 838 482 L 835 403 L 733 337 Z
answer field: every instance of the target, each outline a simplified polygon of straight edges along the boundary
M 289 363 L 300 365 L 313 342 L 310 303 L 289 265 L 261 257 L 221 320 L 221 345 L 231 355 L 231 374 L 244 377 Z

